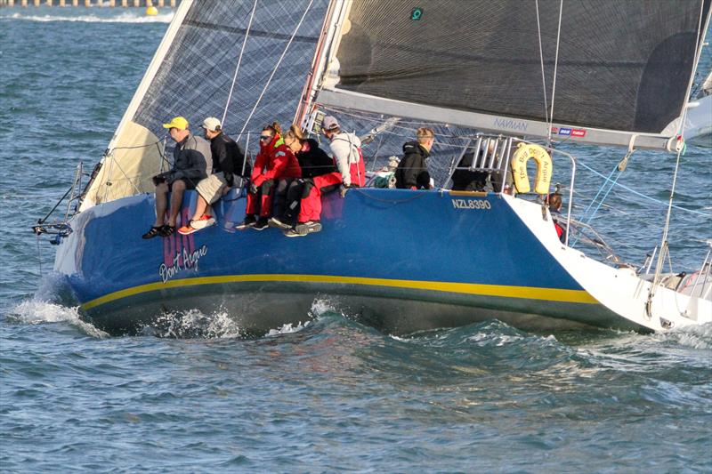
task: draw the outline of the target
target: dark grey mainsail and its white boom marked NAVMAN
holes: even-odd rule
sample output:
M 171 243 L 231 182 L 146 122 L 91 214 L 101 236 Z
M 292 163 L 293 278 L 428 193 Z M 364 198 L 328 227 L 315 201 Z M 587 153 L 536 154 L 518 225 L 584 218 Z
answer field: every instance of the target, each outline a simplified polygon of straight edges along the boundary
M 349 2 L 317 101 L 546 137 L 554 96 L 556 138 L 665 148 L 709 11 L 710 0 Z

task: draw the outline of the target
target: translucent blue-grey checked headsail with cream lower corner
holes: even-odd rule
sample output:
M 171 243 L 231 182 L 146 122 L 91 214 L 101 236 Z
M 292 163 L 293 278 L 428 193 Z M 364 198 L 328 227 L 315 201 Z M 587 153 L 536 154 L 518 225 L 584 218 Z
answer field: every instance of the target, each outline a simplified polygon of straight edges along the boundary
M 255 0 L 182 0 L 109 143 L 108 157 L 87 186 L 82 209 L 153 190 L 150 177 L 166 167 L 159 138 L 166 134 L 161 126 L 166 119 L 185 116 L 191 131 L 200 133 L 206 116 L 223 116 L 248 25 L 223 128 L 239 139 L 236 133 L 243 127 L 255 130 L 273 120 L 291 122 L 327 6 L 325 0 L 257 0 L 256 7 Z

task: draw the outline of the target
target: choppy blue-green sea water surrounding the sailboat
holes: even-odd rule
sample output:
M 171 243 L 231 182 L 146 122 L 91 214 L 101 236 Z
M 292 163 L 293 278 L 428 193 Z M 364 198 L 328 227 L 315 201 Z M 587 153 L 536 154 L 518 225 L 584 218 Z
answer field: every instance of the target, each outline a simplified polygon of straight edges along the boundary
M 709 325 L 525 333 L 492 320 L 397 338 L 328 298 L 309 324 L 260 339 L 225 314 L 137 337 L 82 322 L 28 226 L 109 141 L 170 18 L 139 13 L 0 10 L 0 470 L 712 470 Z M 606 175 L 622 156 L 578 153 Z M 683 158 L 676 204 L 698 212 L 674 217 L 683 269 L 710 237 L 710 161 Z M 673 165 L 636 154 L 620 182 L 665 199 Z M 581 208 L 601 185 L 588 177 Z M 595 223 L 642 261 L 664 207 L 625 189 L 609 204 Z

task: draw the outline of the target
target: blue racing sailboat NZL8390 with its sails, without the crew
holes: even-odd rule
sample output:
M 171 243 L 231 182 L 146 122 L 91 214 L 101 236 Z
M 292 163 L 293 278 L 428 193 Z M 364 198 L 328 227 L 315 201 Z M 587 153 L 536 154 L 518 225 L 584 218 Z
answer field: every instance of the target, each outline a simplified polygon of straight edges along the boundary
M 35 229 L 55 234 L 54 269 L 110 333 L 190 309 L 260 333 L 303 322 L 315 299 L 394 334 L 487 318 L 545 330 L 706 324 L 709 253 L 695 273 L 663 272 L 667 226 L 640 269 L 575 245 L 567 150 L 618 146 L 621 169 L 637 149 L 679 162 L 709 19 L 709 0 L 183 0 L 86 185 L 77 170 L 74 209 Z M 371 172 L 433 128 L 435 189 L 331 193 L 323 230 L 291 239 L 235 231 L 245 190 L 231 189 L 217 225 L 142 240 L 155 218 L 150 177 L 169 166 L 168 118 L 195 132 L 222 116 L 249 152 L 262 125 L 295 121 L 317 136 L 325 114 L 361 135 Z M 468 170 L 490 184 L 450 190 L 468 150 Z M 568 170 L 562 239 L 549 166 Z M 182 222 L 194 205 L 189 192 Z

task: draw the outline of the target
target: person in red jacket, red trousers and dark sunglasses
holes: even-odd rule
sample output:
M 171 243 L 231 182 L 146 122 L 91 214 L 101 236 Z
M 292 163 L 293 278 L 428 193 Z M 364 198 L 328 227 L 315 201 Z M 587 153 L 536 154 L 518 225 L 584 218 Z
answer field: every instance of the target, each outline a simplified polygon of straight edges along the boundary
M 255 157 L 255 166 L 252 169 L 245 221 L 239 223 L 236 229 L 267 229 L 276 183 L 280 179 L 302 176 L 299 162 L 292 150 L 285 145 L 281 133 L 277 122 L 265 125 L 260 133 L 260 153 Z M 258 215 L 259 219 L 255 218 L 255 215 Z

